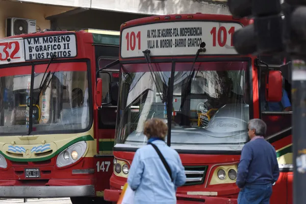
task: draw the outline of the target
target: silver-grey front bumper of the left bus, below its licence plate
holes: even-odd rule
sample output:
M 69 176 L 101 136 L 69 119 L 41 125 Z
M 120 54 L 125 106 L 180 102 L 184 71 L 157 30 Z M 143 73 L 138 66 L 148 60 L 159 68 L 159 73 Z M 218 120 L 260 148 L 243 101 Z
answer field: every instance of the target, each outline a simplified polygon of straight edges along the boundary
M 0 197 L 46 198 L 94 196 L 94 185 L 84 186 L 0 186 Z

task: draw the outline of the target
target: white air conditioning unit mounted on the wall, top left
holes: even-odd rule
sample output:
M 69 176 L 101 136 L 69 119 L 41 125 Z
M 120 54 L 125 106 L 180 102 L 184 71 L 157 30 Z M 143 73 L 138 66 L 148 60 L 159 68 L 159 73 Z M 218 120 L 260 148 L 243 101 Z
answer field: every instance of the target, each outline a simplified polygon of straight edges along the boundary
M 24 18 L 6 19 L 6 37 L 36 32 L 36 20 Z

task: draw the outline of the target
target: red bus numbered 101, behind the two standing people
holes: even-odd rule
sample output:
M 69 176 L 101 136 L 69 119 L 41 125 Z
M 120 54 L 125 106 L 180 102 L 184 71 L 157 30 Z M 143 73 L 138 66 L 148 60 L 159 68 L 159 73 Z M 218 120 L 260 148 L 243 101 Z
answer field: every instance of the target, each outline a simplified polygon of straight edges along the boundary
M 197 13 L 121 25 L 114 171 L 106 200 L 118 200 L 135 151 L 146 145 L 144 122 L 158 117 L 168 124 L 166 142 L 179 152 L 185 167 L 187 180 L 177 189 L 177 202 L 237 203 L 237 165 L 249 140 L 247 122 L 263 118 L 282 171 L 271 203 L 290 203 L 290 112 L 267 111 L 263 105 L 265 98 L 275 100 L 271 93 L 282 88 L 282 72 L 277 70 L 284 62 L 236 53 L 233 34 L 248 23 Z M 285 85 L 289 90 L 290 84 Z

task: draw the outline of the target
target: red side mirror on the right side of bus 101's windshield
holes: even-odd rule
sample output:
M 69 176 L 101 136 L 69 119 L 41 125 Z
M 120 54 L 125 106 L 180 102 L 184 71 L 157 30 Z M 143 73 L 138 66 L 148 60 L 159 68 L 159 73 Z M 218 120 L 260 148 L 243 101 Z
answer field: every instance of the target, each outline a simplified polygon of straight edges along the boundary
M 283 96 L 283 76 L 281 71 L 270 70 L 266 76 L 266 100 L 279 102 Z

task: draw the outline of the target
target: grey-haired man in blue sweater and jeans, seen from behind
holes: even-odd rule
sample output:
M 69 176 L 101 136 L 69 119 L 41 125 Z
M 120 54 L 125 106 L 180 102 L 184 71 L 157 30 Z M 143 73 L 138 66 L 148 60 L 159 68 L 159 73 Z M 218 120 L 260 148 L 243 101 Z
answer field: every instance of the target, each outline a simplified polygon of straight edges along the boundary
M 263 137 L 266 131 L 267 125 L 263 120 L 249 121 L 250 142 L 243 146 L 238 164 L 236 184 L 241 189 L 238 204 L 269 203 L 272 184 L 278 179 L 279 169 L 275 149 Z

